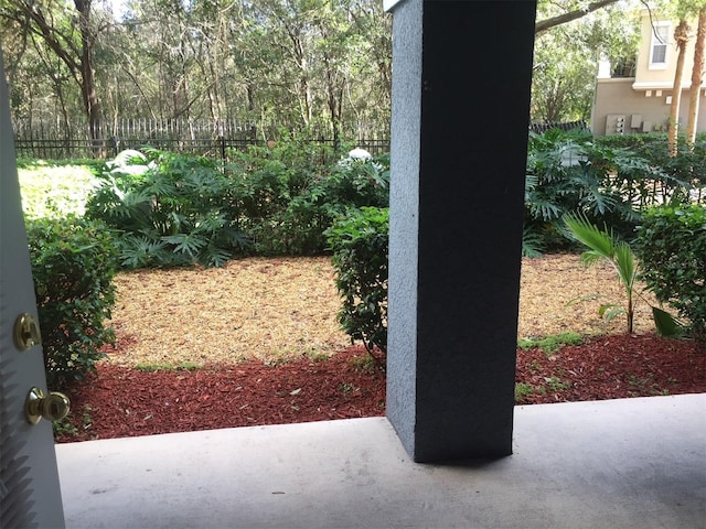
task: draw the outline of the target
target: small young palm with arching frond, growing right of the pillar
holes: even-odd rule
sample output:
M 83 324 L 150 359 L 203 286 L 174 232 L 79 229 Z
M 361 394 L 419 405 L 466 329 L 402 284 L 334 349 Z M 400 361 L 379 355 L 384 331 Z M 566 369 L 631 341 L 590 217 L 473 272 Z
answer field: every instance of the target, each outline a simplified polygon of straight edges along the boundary
M 599 309 L 601 316 L 607 321 L 611 321 L 616 316 L 624 314 L 627 317 L 627 331 L 632 334 L 634 303 L 638 298 L 641 298 L 652 307 L 652 316 L 657 333 L 663 336 L 678 336 L 683 333 L 683 325 L 668 312 L 650 304 L 640 294 L 638 290 L 639 263 L 628 242 L 620 240 L 612 229 L 609 230 L 607 227 L 603 227 L 603 229 L 598 228 L 580 213 L 565 215 L 564 224 L 571 237 L 588 248 L 587 251 L 581 253 L 584 264 L 591 266 L 598 261 L 609 262 L 616 270 L 620 284 L 625 291 L 625 304 L 602 304 Z

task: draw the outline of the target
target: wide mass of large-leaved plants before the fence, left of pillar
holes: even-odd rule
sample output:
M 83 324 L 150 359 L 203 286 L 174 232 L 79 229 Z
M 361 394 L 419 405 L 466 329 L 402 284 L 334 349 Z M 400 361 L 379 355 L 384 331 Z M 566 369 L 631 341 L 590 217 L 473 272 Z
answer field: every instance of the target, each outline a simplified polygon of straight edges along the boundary
M 223 266 L 247 255 L 321 255 L 324 231 L 388 203 L 386 156 L 321 145 L 250 147 L 228 164 L 153 149 L 106 163 L 86 215 L 114 231 L 124 268 Z

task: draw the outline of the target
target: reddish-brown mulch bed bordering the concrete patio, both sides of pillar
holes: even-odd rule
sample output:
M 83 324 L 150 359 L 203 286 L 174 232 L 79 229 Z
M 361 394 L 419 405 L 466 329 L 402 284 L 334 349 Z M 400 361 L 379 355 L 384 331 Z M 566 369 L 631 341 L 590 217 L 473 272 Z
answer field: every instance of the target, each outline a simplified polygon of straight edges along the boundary
M 385 413 L 384 374 L 356 369 L 351 347 L 328 360 L 145 373 L 100 364 L 71 392 L 77 433 L 57 442 Z M 359 363 L 360 364 L 360 363 Z M 554 355 L 517 352 L 517 403 L 706 392 L 706 353 L 693 342 L 613 335 Z

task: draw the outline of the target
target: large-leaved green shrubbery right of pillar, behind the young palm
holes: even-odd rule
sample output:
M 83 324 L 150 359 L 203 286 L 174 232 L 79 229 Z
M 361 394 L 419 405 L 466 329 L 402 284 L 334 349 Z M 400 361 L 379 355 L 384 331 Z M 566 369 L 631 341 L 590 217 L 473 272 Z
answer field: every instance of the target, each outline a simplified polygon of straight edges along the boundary
M 634 144 L 639 144 L 635 140 Z M 550 130 L 531 134 L 525 184 L 525 246 L 566 249 L 561 218 L 578 212 L 591 223 L 612 226 L 625 239 L 634 237 L 642 210 L 665 199 L 683 199 L 694 185 L 693 172 L 672 165 L 695 161 L 684 155 L 648 158 L 625 141 L 599 141 L 588 133 Z M 666 142 L 664 142 L 666 149 Z M 687 160 L 688 158 L 688 160 Z M 672 164 L 672 165 L 668 165 Z M 530 252 L 525 251 L 525 255 Z

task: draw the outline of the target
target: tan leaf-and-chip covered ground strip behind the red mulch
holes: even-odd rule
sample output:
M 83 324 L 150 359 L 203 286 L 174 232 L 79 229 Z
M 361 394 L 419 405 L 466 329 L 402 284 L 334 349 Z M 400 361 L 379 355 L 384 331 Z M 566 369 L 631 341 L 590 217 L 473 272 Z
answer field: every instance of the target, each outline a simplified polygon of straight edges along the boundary
M 340 300 L 329 257 L 246 258 L 223 268 L 139 270 L 116 277 L 111 324 L 119 347 L 114 365 L 268 364 L 325 356 L 351 345 L 336 321 Z M 523 259 L 520 338 L 564 333 L 624 332 L 624 319 L 606 322 L 600 300 L 623 301 L 609 266 L 587 269 L 577 255 Z M 571 300 L 585 296 L 587 301 Z M 635 333 L 652 331 L 638 303 Z

